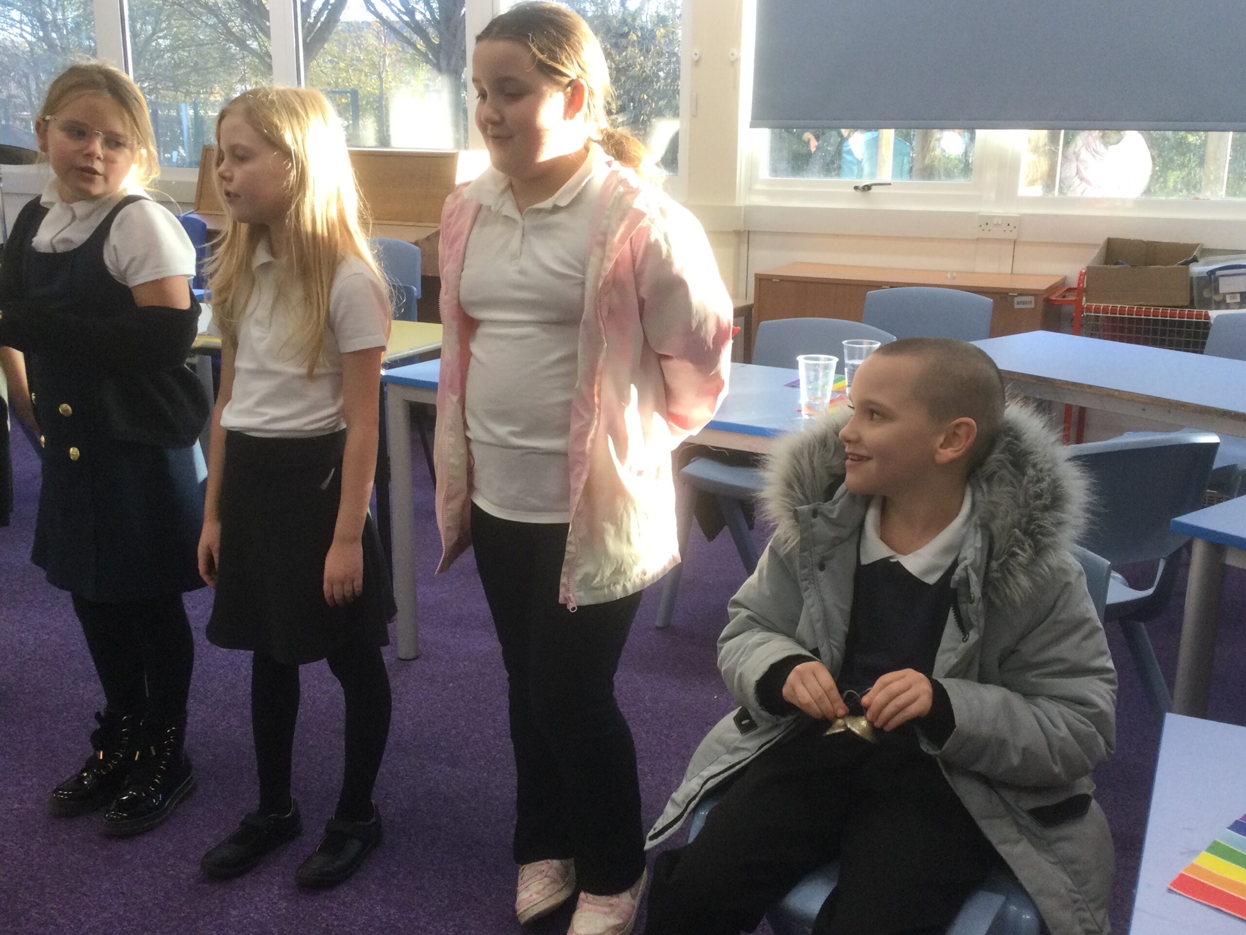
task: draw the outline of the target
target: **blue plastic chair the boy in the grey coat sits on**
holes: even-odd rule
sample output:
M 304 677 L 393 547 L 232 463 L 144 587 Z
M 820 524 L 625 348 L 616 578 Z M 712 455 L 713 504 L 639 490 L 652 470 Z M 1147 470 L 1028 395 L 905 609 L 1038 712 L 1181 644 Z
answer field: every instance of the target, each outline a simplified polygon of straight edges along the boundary
M 1085 572 L 1087 588 L 1101 620 L 1111 566 L 1106 559 L 1080 546 L 1074 546 L 1073 555 Z M 721 793 L 710 793 L 697 805 L 688 819 L 688 840 L 700 833 L 709 810 L 720 798 Z M 837 861 L 805 876 L 766 914 L 771 931 L 775 935 L 810 935 L 814 920 L 839 878 Z M 1001 863 L 964 901 L 946 935 L 1039 935 L 1040 930 L 1038 908 Z

